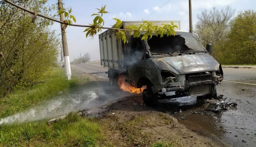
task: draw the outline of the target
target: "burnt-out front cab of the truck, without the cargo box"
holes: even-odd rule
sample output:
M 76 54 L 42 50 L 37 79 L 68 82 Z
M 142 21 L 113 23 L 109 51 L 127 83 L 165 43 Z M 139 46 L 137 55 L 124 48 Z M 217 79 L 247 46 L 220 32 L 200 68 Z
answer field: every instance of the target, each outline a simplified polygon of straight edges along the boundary
M 124 58 L 127 80 L 142 88 L 145 103 L 154 104 L 163 88 L 176 96 L 216 97 L 216 85 L 223 79 L 220 63 L 189 32 L 141 40 L 131 36 Z M 160 97 L 159 97 L 160 98 Z

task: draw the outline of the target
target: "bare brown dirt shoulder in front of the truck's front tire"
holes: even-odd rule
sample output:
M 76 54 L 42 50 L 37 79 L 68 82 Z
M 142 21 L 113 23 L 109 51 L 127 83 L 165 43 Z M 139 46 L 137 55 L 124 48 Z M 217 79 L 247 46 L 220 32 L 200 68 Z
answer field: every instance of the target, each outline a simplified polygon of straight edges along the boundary
M 111 146 L 152 146 L 157 142 L 173 146 L 228 146 L 213 135 L 193 132 L 167 113 L 142 104 L 140 97 L 126 97 L 108 106 L 99 123 Z

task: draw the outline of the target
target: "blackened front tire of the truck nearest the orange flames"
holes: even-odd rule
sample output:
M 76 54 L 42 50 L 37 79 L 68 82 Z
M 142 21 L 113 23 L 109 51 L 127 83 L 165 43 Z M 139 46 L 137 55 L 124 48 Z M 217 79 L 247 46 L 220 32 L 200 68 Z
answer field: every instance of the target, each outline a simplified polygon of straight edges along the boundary
M 142 98 L 143 98 L 143 103 L 146 106 L 157 106 L 157 103 L 158 103 L 157 96 L 153 94 L 150 86 L 147 86 L 147 88 L 143 90 Z

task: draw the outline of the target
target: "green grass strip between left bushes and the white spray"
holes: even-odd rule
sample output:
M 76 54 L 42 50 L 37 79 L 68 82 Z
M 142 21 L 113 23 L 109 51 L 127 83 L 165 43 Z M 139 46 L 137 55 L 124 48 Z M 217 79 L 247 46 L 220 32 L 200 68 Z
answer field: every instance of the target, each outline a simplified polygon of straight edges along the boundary
M 0 102 L 0 118 L 12 115 L 29 107 L 33 107 L 43 100 L 51 99 L 60 91 L 78 85 L 78 80 L 67 80 L 64 68 L 54 68 L 50 77 L 43 82 L 26 89 L 20 89 L 7 95 Z

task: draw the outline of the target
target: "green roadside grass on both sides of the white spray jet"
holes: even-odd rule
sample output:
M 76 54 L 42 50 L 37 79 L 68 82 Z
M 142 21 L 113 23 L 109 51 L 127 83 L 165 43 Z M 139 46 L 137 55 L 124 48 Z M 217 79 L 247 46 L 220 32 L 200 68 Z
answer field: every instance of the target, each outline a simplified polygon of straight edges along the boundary
M 0 101 L 0 118 L 31 108 L 60 91 L 69 91 L 81 83 L 67 80 L 64 68 L 55 68 L 50 77 L 27 89 L 20 89 Z M 48 125 L 45 120 L 1 125 L 0 146 L 96 146 L 102 138 L 100 127 L 88 118 L 70 113 L 64 120 Z

